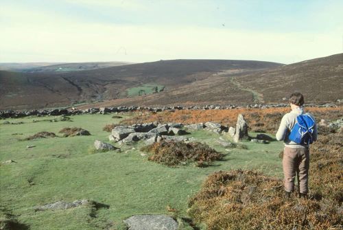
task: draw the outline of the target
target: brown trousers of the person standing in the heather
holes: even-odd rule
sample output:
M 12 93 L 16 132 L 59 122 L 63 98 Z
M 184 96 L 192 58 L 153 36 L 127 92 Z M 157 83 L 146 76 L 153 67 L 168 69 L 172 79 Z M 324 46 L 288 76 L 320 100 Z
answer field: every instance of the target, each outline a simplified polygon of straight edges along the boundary
M 294 180 L 297 177 L 299 191 L 309 192 L 309 148 L 288 148 L 283 150 L 283 174 L 285 191 L 294 192 Z

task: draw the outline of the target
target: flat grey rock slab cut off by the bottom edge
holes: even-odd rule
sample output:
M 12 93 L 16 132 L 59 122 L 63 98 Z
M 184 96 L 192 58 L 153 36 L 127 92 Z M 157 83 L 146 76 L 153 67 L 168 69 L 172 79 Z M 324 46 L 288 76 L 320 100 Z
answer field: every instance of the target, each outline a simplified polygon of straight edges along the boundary
M 123 222 L 128 230 L 177 230 L 178 222 L 166 215 L 131 216 Z

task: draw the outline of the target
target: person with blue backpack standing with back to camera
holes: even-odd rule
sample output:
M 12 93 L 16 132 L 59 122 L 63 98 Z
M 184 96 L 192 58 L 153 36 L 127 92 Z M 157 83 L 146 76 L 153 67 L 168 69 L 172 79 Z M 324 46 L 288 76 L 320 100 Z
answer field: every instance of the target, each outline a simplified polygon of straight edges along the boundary
M 294 192 L 294 181 L 295 176 L 297 176 L 298 186 L 299 186 L 299 196 L 301 198 L 307 198 L 307 193 L 309 192 L 308 180 L 309 180 L 309 143 L 317 140 L 317 127 L 314 116 L 310 113 L 304 113 L 304 97 L 301 93 L 292 93 L 289 97 L 289 104 L 292 111 L 286 113 L 276 133 L 276 139 L 278 141 L 283 141 L 285 148 L 283 150 L 283 174 L 285 183 L 285 197 L 289 198 L 290 194 Z M 309 127 L 310 132 L 298 132 L 299 117 L 307 117 L 311 123 Z M 304 121 L 304 119 L 302 119 Z M 301 124 L 300 124 L 301 125 Z M 296 126 L 296 127 L 294 127 Z M 307 128 L 306 122 L 303 122 L 303 126 Z M 307 141 L 292 141 L 291 136 L 296 130 L 296 134 L 300 133 L 300 138 L 303 138 L 304 133 L 307 133 Z M 292 135 L 291 135 L 292 133 Z M 299 139 L 300 139 L 299 138 Z

